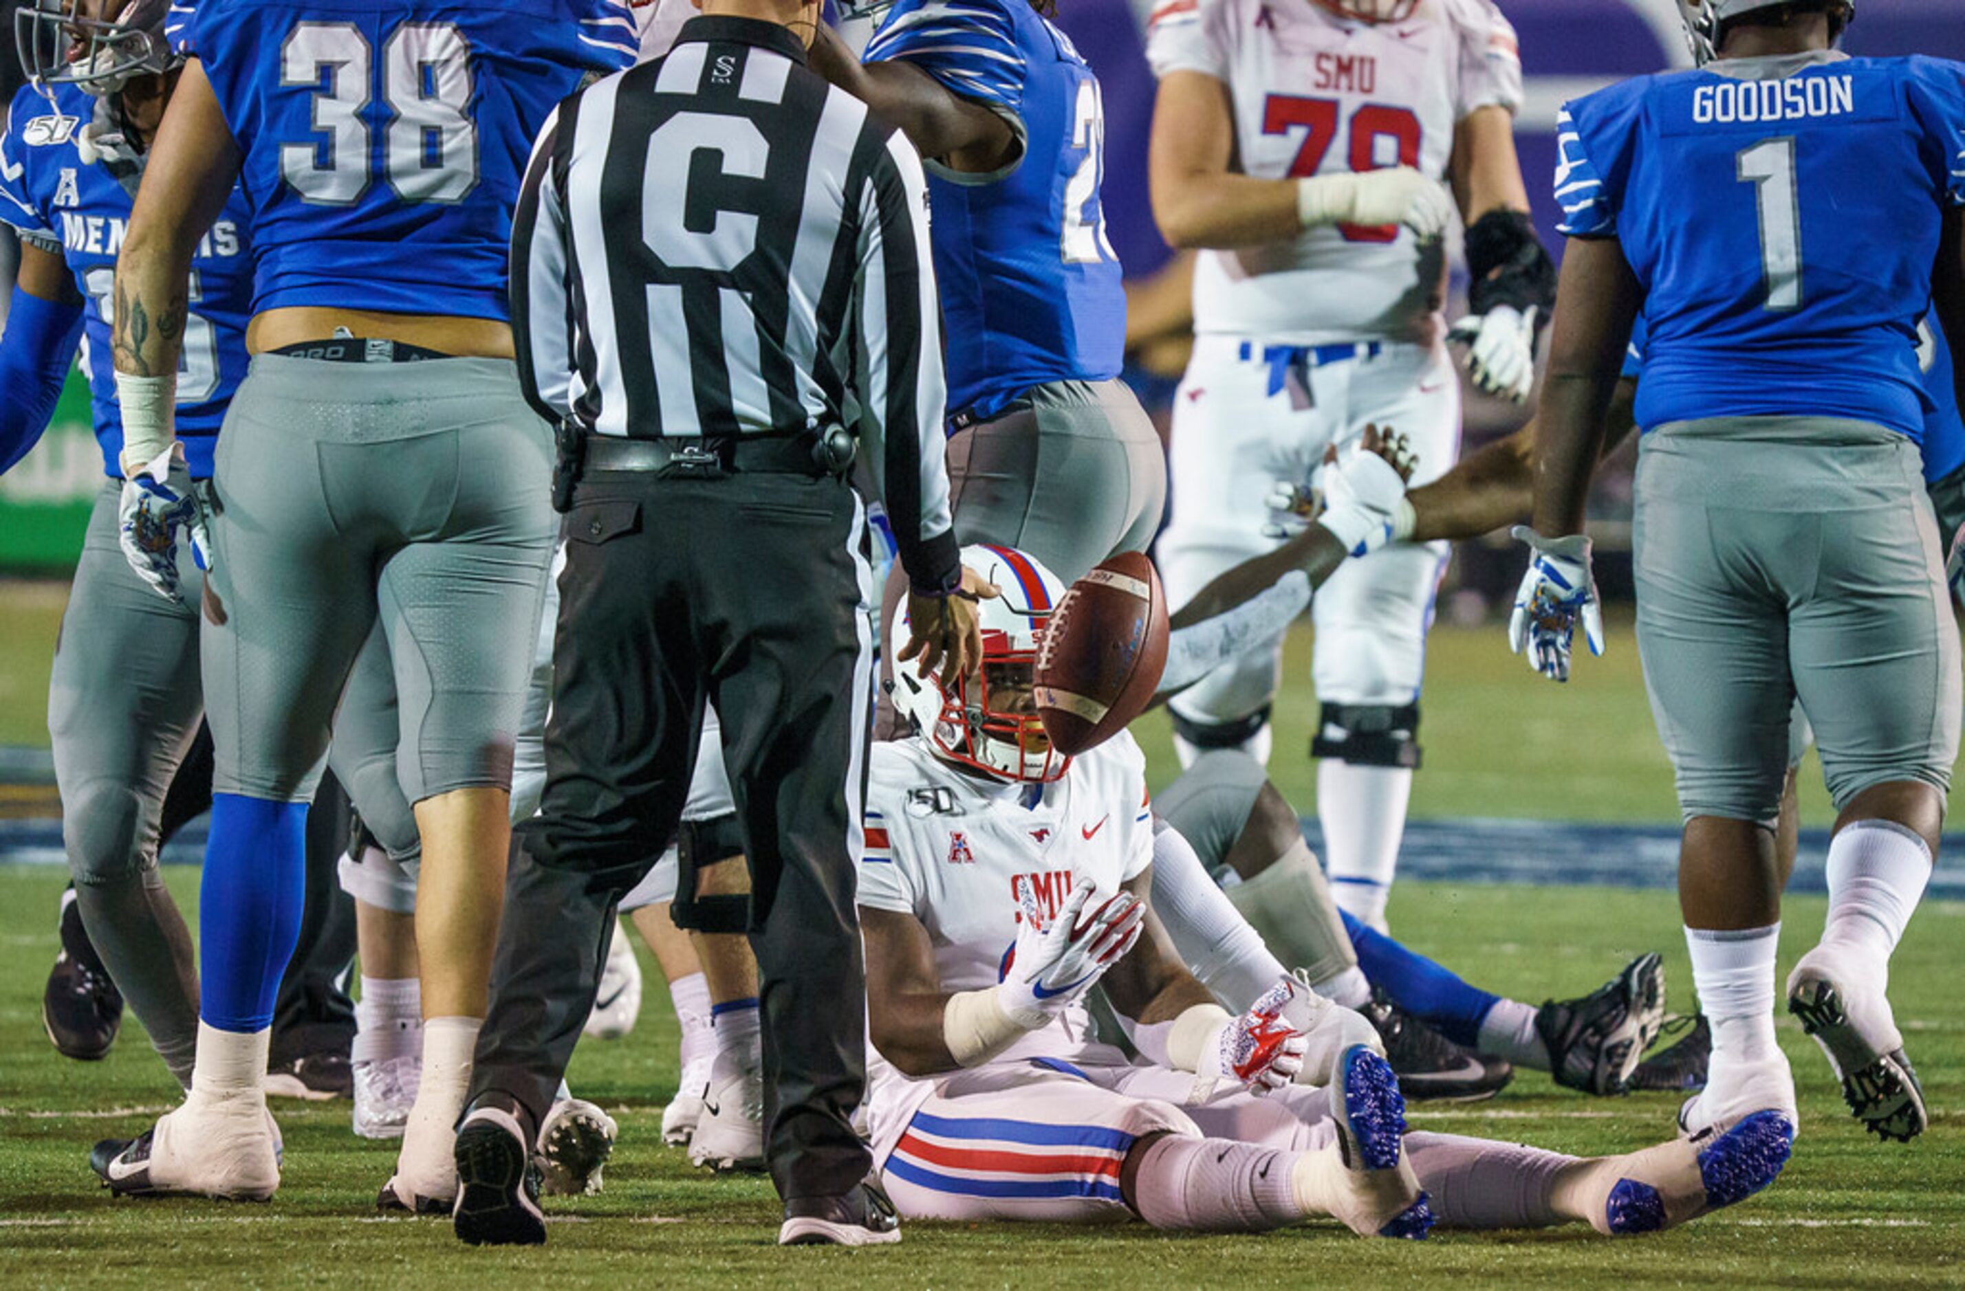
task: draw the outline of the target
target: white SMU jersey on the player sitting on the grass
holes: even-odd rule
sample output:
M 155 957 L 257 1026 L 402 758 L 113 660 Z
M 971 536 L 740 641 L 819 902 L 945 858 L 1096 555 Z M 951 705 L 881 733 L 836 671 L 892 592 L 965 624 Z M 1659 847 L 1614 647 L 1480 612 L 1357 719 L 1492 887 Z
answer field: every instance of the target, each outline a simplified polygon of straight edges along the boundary
M 920 739 L 869 753 L 859 904 L 922 922 L 943 990 L 1000 982 L 1026 908 L 1055 918 L 1077 886 L 1095 884 L 1096 902 L 1151 863 L 1146 755 L 1132 735 L 1073 758 L 1041 786 L 965 774 Z M 1095 1045 L 1091 1014 L 1075 1004 L 992 1061 L 1116 1055 Z M 906 1124 L 933 1089 L 894 1071 L 870 1045 L 867 1075 L 876 1138 Z

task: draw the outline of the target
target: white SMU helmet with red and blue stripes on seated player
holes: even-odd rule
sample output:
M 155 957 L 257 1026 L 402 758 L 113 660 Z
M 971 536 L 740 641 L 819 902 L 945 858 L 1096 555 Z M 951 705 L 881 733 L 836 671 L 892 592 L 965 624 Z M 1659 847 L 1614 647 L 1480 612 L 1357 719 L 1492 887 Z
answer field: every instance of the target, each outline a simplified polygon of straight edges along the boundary
M 937 674 L 920 676 L 914 662 L 896 662 L 894 707 L 945 762 L 971 766 L 998 780 L 1057 780 L 1071 758 L 1051 749 L 1032 690 L 1038 680 L 1038 645 L 1065 586 L 1010 546 L 965 546 L 963 568 L 1000 588 L 1000 595 L 977 601 L 982 668 L 945 690 Z M 908 637 L 908 601 L 902 599 L 894 613 L 894 643 Z M 1014 709 L 996 707 L 990 702 L 992 688 L 998 694 L 1006 688 L 1018 692 L 1022 702 Z

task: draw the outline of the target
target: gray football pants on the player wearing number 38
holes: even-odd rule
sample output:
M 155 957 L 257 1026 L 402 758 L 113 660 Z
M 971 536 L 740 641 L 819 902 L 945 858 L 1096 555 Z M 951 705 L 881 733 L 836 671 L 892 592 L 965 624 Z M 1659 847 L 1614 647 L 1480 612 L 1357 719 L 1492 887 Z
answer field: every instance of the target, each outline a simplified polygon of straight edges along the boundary
M 214 477 L 216 790 L 312 794 L 334 702 L 375 623 L 401 705 L 405 800 L 509 788 L 552 556 L 550 474 L 550 432 L 511 362 L 255 356 Z

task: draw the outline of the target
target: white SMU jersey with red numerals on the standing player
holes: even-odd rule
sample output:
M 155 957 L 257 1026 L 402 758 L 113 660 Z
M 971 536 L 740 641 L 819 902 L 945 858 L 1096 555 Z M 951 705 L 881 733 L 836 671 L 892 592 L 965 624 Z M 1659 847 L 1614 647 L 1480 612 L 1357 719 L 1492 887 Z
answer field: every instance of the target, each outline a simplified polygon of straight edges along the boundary
M 1446 175 L 1454 128 L 1476 108 L 1521 108 L 1515 28 L 1493 0 L 1421 0 L 1407 22 L 1366 24 L 1313 0 L 1165 0 L 1153 73 L 1228 86 L 1236 169 L 1258 179 L 1411 165 Z M 1446 252 L 1411 230 L 1313 228 L 1293 242 L 1201 252 L 1195 330 L 1319 346 L 1432 344 Z

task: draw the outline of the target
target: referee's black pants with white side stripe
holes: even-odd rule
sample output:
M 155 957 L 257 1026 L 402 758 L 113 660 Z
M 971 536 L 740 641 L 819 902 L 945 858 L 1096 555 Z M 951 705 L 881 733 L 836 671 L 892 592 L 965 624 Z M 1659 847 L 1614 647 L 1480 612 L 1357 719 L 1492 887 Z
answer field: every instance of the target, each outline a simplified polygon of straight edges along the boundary
M 833 477 L 597 472 L 566 517 L 546 790 L 519 827 L 472 1098 L 546 1114 L 617 902 L 676 835 L 703 703 L 751 859 L 764 1155 L 786 1201 L 872 1167 L 855 908 L 872 650 L 865 511 Z

